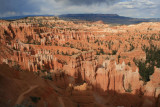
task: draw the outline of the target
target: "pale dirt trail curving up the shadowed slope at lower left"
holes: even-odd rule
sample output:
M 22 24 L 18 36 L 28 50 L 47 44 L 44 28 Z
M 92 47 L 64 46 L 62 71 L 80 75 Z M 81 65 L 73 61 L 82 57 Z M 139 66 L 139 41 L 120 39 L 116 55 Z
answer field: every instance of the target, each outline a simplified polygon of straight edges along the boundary
M 37 87 L 38 87 L 38 85 L 31 86 L 27 91 L 25 91 L 22 94 L 20 94 L 18 99 L 17 99 L 17 101 L 16 101 L 16 104 L 17 105 L 21 104 L 23 99 L 24 99 L 24 95 L 28 94 L 29 92 L 31 92 L 32 90 L 34 90 Z

